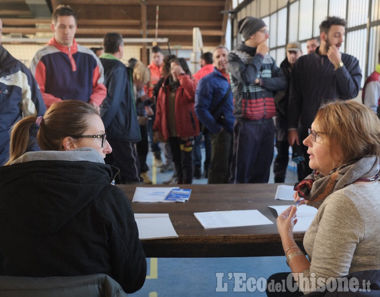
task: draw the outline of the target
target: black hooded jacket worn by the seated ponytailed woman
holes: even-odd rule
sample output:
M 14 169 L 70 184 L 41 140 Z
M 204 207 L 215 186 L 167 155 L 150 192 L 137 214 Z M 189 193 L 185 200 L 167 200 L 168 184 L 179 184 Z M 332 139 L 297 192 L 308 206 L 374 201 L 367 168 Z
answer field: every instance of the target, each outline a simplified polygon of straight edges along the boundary
M 131 205 L 110 184 L 117 172 L 91 161 L 0 167 L 0 275 L 105 273 L 127 293 L 139 290 L 145 255 Z

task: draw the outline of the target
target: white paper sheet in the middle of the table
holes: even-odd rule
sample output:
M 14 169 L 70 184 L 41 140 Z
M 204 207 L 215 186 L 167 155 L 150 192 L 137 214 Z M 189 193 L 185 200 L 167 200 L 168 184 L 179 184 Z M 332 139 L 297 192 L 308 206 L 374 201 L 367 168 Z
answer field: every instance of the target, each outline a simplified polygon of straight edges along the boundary
M 194 212 L 194 216 L 205 229 L 273 224 L 256 209 Z

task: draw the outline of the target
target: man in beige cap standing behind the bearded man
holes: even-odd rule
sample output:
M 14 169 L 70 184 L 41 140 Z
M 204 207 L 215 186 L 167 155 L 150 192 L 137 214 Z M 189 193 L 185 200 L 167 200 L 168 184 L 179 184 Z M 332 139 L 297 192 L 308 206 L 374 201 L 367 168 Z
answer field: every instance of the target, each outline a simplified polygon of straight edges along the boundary
M 280 68 L 287 80 L 286 89 L 279 91 L 275 95 L 276 104 L 276 148 L 277 156 L 273 163 L 273 172 L 275 174 L 275 183 L 284 183 L 289 162 L 289 144 L 287 142 L 287 104 L 290 89 L 290 74 L 295 61 L 302 55 L 302 48 L 299 42 L 289 42 L 286 45 L 286 58 L 282 61 Z M 303 154 L 296 155 L 300 150 L 298 146 L 293 146 L 293 157 L 303 158 Z M 296 160 L 298 160 L 296 159 Z M 303 172 L 302 163 L 297 164 L 297 171 Z M 302 177 L 303 178 L 303 177 Z M 298 177 L 299 179 L 299 177 Z

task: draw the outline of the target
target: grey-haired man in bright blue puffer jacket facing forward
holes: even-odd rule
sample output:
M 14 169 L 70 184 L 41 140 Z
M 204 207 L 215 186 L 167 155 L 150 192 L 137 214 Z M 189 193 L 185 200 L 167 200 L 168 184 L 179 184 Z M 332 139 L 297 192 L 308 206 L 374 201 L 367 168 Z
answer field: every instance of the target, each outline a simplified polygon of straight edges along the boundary
M 199 81 L 195 91 L 195 114 L 211 133 L 209 184 L 223 184 L 229 179 L 235 117 L 227 55 L 225 47 L 215 49 L 214 70 Z

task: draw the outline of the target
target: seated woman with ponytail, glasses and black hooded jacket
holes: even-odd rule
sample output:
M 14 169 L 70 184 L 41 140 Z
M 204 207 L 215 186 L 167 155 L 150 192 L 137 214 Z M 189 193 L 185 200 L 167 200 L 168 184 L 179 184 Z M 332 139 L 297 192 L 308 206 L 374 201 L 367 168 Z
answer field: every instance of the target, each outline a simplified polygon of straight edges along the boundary
M 25 152 L 34 123 L 42 151 Z M 104 164 L 111 151 L 98 112 L 79 100 L 15 124 L 0 167 L 0 275 L 105 273 L 127 293 L 142 287 L 145 255 L 131 205 L 111 184 L 119 170 Z

